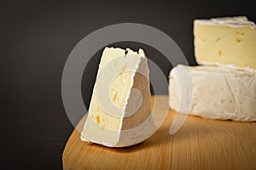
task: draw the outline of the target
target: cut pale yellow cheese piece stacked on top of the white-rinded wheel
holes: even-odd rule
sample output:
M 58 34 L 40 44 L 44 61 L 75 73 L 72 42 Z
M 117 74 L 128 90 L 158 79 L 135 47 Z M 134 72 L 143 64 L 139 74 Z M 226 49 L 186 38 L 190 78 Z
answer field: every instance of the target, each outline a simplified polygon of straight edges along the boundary
M 198 64 L 256 69 L 256 26 L 247 17 L 195 20 L 194 37 Z

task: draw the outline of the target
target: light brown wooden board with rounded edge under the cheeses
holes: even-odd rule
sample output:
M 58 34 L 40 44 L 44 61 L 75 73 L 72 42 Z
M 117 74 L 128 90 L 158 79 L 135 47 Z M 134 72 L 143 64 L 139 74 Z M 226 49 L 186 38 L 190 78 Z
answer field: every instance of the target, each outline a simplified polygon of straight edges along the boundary
M 188 116 L 177 133 L 170 135 L 175 114 L 169 110 L 166 121 L 150 138 L 126 148 L 83 142 L 74 130 L 62 154 L 63 169 L 256 168 L 256 122 Z M 85 119 L 79 122 L 79 129 Z

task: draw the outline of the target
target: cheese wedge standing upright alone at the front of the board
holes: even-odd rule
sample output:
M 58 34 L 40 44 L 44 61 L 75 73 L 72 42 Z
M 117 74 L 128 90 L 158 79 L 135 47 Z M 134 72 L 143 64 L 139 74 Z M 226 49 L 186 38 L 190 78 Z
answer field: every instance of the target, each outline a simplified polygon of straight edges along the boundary
M 81 139 L 124 147 L 147 139 L 150 116 L 148 60 L 143 52 L 105 48 Z

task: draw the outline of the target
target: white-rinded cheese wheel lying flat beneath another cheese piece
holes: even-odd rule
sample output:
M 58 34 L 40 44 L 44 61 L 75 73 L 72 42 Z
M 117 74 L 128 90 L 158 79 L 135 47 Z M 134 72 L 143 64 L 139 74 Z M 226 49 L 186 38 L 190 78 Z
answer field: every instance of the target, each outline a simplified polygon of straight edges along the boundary
M 180 79 L 183 70 L 189 70 L 191 77 Z M 241 122 L 256 121 L 254 71 L 177 65 L 169 78 L 169 106 L 175 111 L 183 111 L 180 105 L 183 93 L 183 96 L 192 96 L 188 105 L 185 105 L 190 108 L 188 112 L 191 115 Z M 181 90 L 181 83 L 191 80 L 192 86 L 185 86 L 186 89 Z

